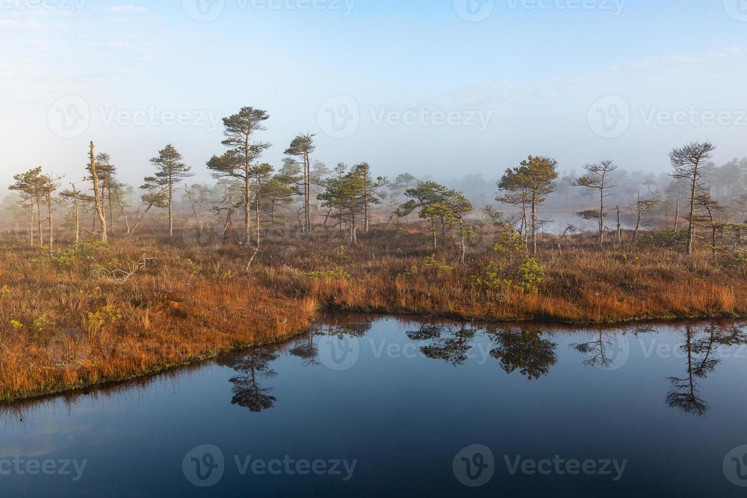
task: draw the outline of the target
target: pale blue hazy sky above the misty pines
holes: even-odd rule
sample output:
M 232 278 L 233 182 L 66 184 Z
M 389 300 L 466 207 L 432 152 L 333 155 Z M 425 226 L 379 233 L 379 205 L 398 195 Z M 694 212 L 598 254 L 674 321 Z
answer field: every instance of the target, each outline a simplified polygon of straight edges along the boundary
M 88 143 L 138 186 L 168 143 L 196 172 L 221 118 L 270 114 L 378 175 L 498 178 L 527 155 L 657 174 L 747 156 L 747 0 L 0 0 L 0 186 L 81 183 Z

